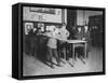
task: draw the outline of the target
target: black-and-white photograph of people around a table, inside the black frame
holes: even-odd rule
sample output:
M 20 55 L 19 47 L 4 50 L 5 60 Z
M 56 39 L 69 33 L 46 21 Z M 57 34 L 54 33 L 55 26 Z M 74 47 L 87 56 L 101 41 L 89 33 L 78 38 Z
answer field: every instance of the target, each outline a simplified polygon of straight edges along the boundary
M 103 72 L 102 10 L 23 6 L 23 77 Z

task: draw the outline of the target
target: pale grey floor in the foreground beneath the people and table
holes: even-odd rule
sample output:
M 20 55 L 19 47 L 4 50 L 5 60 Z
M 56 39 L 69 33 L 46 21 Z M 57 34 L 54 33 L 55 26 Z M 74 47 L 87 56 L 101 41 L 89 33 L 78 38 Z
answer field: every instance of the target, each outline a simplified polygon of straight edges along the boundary
M 91 47 L 91 52 L 89 53 L 89 58 L 85 59 L 85 64 L 81 61 L 81 59 L 77 58 L 73 67 L 65 59 L 63 59 L 66 64 L 62 64 L 63 67 L 54 66 L 52 69 L 38 58 L 24 53 L 23 57 L 23 74 L 27 75 L 46 75 L 46 74 L 64 74 L 64 73 L 82 73 L 82 72 L 98 72 L 103 71 L 103 49 L 99 47 Z M 72 58 L 70 58 L 70 63 L 72 63 Z

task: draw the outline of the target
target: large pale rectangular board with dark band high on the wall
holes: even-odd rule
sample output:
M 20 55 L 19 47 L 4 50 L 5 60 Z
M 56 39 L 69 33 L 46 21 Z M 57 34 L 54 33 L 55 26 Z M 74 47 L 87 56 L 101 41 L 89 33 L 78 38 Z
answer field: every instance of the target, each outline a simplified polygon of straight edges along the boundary
M 23 8 L 24 20 L 62 23 L 62 9 L 52 8 Z

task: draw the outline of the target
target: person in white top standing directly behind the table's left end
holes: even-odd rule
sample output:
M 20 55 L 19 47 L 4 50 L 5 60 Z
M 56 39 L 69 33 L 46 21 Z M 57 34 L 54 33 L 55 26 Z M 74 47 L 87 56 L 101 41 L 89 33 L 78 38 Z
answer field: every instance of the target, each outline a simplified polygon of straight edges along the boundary
M 67 43 L 68 41 L 68 37 L 69 37 L 69 31 L 66 29 L 66 24 L 63 23 L 62 24 L 62 27 L 59 28 L 59 36 L 60 36 L 60 39 L 63 40 L 59 40 L 59 49 L 60 49 L 60 53 L 63 53 L 64 55 L 64 58 L 69 63 L 69 65 L 71 67 L 73 67 L 73 59 L 72 59 L 72 63 L 69 58 L 69 44 Z M 64 41 L 64 40 L 67 40 L 67 41 Z

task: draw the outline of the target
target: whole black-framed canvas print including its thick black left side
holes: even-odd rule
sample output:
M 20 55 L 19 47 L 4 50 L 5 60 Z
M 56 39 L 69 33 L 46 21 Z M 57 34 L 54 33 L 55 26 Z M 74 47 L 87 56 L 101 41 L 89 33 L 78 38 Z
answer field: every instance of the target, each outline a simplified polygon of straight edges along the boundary
M 105 74 L 105 8 L 12 5 L 12 78 Z

